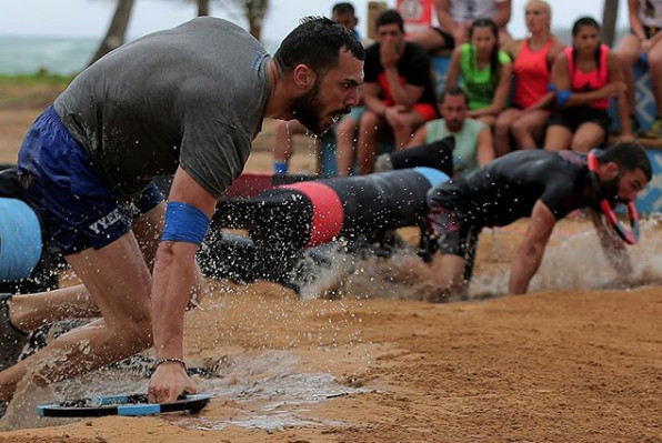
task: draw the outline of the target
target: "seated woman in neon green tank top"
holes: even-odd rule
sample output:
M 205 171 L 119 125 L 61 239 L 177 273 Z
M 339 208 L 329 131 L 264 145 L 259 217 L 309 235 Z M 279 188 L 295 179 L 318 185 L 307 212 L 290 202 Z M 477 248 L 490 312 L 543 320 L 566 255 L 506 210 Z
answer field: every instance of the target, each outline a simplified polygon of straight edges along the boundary
M 499 50 L 499 28 L 492 20 L 475 20 L 469 39 L 469 43 L 453 51 L 447 88 L 458 85 L 462 77 L 462 88 L 469 95 L 469 117 L 491 125 L 506 105 L 512 63 Z

